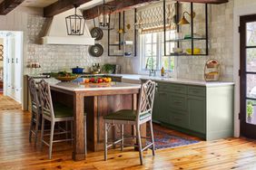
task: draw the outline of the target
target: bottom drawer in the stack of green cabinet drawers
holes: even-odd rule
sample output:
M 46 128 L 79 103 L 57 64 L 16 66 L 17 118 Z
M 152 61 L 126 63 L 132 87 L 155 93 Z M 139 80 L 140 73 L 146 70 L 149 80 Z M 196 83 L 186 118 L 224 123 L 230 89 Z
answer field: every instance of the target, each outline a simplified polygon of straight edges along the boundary
M 187 114 L 172 111 L 170 115 L 170 123 L 177 127 L 189 127 L 189 117 Z

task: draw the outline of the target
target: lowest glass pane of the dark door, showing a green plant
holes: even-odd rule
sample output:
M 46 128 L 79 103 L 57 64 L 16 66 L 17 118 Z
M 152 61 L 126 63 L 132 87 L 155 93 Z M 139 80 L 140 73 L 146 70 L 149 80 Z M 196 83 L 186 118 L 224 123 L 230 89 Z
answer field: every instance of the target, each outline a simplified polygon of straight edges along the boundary
M 256 125 L 256 100 L 246 100 L 246 122 Z

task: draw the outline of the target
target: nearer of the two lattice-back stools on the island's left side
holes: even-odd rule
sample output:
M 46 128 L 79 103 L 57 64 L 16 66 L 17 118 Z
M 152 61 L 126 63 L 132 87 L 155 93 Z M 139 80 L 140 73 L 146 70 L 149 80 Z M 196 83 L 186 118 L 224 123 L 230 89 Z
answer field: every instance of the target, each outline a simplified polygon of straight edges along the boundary
M 74 121 L 73 109 L 66 107 L 60 103 L 54 103 L 52 101 L 52 95 L 49 84 L 45 80 L 41 80 L 39 85 L 39 96 L 42 105 L 42 129 L 41 129 L 41 148 L 43 144 L 49 146 L 49 159 L 52 158 L 52 148 L 54 142 L 64 142 L 73 140 L 73 126 L 71 126 L 70 131 L 64 131 L 59 133 L 54 133 L 54 125 L 56 122 L 66 122 Z M 44 121 L 48 120 L 51 122 L 51 133 L 50 141 L 47 143 L 44 140 Z M 71 138 L 54 140 L 54 135 L 71 133 Z M 86 114 L 84 113 L 84 144 L 85 144 L 85 154 L 87 153 L 86 149 Z

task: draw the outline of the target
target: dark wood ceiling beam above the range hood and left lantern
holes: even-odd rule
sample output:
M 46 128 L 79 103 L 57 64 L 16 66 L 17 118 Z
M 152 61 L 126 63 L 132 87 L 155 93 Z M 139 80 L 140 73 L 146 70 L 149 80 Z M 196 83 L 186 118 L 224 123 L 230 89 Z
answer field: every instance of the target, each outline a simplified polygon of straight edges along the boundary
M 74 5 L 84 5 L 91 0 L 58 0 L 52 5 L 44 7 L 44 17 L 53 17 L 74 8 Z

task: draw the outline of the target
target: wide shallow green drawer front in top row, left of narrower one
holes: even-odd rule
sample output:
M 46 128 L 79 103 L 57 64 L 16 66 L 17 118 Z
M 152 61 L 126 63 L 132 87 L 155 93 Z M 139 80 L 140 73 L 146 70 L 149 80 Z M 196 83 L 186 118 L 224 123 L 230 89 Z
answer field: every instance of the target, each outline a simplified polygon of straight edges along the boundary
M 173 93 L 187 94 L 187 86 L 182 84 L 158 83 L 158 90 Z

